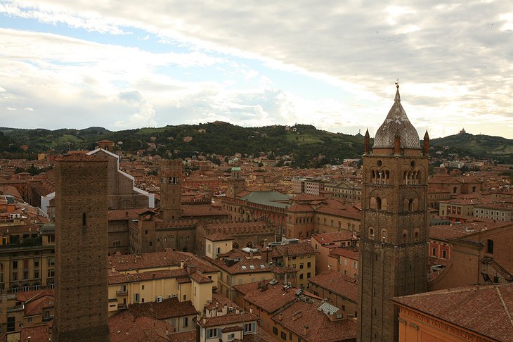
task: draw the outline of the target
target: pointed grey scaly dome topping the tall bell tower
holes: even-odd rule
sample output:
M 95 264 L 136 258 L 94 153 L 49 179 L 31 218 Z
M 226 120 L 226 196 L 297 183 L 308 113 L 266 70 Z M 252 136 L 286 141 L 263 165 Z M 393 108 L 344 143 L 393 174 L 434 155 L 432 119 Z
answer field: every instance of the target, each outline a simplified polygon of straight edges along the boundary
M 399 84 L 397 84 L 394 105 L 390 108 L 389 114 L 381 127 L 377 129 L 372 148 L 394 148 L 396 134 L 401 136 L 401 148 L 420 148 L 417 129 L 413 127 L 403 106 L 401 106 Z

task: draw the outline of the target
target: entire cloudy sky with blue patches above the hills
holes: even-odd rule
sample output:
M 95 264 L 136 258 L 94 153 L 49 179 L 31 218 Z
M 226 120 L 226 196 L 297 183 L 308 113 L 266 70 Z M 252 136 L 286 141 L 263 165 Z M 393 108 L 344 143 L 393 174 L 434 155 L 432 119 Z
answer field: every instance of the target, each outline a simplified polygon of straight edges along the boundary
M 389 4 L 385 4 L 389 3 Z M 0 126 L 513 139 L 511 1 L 0 0 Z

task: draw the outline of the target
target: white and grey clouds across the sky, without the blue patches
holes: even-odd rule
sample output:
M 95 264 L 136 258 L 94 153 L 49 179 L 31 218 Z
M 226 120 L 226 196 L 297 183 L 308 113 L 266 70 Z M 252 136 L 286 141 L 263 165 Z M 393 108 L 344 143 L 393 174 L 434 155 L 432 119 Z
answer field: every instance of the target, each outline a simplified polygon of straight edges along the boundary
M 513 15 L 509 1 L 410 1 L 408 6 L 375 1 L 345 6 L 313 0 L 298 0 L 294 6 L 275 1 L 154 1 L 152 6 L 141 6 L 134 0 L 100 4 L 41 0 L 37 4 L 6 2 L 0 4 L 0 12 L 108 34 L 143 29 L 157 34 L 162 42 L 191 51 L 149 53 L 52 34 L 0 30 L 0 41 L 5 42 L 0 57 L 7 62 L 0 66 L 0 84 L 9 89 L 10 96 L 1 99 L 13 108 L 23 106 L 16 101 L 37 99 L 34 94 L 39 92 L 57 94 L 64 103 L 86 94 L 97 103 L 106 101 L 121 108 L 117 113 L 124 117 L 112 122 L 125 125 L 144 120 L 162 125 L 171 119 L 160 110 L 176 108 L 181 113 L 188 108 L 195 115 L 232 118 L 248 125 L 255 118 L 277 123 L 294 119 L 344 130 L 344 125 L 354 129 L 358 124 L 379 126 L 391 106 L 393 82 L 399 77 L 414 125 L 420 120 L 436 132 L 457 132 L 465 115 L 472 115 L 487 134 L 512 137 L 513 37 L 509 30 Z M 278 89 L 283 96 L 283 101 L 275 96 L 280 110 L 269 110 L 244 96 L 246 90 L 265 94 L 264 89 L 275 89 L 272 77 L 261 70 L 233 66 L 248 82 L 258 80 L 251 89 L 240 87 L 235 78 L 190 82 L 158 70 L 176 66 L 230 70 L 225 60 L 229 57 L 219 58 L 219 52 L 259 58 L 268 68 L 324 80 L 359 101 L 346 103 L 330 96 L 314 101 Z M 13 81 L 19 75 L 27 80 Z M 11 83 L 21 90 L 11 91 Z M 136 113 L 127 114 L 126 103 L 113 100 L 126 89 L 144 94 L 148 108 L 138 107 Z M 207 96 L 200 99 L 200 94 Z M 192 103 L 197 107 L 190 107 Z M 359 115 L 364 119 L 353 119 Z M 493 115 L 493 120 L 486 121 L 491 118 L 486 115 Z M 186 119 L 196 120 L 192 114 Z M 502 125 L 495 123 L 501 121 Z

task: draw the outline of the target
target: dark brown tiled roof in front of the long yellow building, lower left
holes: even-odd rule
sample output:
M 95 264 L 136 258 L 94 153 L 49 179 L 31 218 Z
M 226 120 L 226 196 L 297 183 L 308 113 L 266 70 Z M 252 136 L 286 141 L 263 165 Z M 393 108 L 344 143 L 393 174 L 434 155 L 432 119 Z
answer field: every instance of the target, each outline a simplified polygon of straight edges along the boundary
M 178 298 L 167 298 L 162 303 L 148 302 L 129 305 L 129 311 L 134 317 L 150 317 L 168 319 L 174 317 L 196 315 L 197 310 L 190 300 L 181 302 Z

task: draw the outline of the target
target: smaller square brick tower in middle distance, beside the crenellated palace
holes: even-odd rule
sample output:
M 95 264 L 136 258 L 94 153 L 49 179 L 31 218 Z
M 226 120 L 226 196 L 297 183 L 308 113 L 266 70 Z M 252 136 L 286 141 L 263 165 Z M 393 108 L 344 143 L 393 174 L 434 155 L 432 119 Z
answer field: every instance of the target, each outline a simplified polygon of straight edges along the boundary
M 160 163 L 160 208 L 165 221 L 178 220 L 182 215 L 182 167 L 179 159 L 162 160 Z

